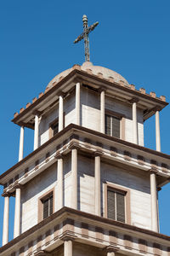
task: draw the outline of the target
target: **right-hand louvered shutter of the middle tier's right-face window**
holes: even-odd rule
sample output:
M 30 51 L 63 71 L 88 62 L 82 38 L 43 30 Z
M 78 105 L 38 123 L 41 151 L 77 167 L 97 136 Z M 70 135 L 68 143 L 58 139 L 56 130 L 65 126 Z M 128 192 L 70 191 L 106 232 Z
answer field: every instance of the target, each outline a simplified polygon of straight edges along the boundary
M 116 192 L 116 220 L 125 223 L 125 195 Z

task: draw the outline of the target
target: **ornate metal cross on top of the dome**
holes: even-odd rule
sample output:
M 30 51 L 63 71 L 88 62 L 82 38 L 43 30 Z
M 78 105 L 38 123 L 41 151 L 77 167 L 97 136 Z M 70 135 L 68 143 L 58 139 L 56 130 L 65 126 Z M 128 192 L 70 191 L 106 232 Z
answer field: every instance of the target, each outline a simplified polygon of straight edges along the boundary
M 87 15 L 82 16 L 83 22 L 83 32 L 78 38 L 74 41 L 74 44 L 78 43 L 79 41 L 84 38 L 84 50 L 85 50 L 85 61 L 90 61 L 90 52 L 89 52 L 89 32 L 93 31 L 96 26 L 98 26 L 99 22 L 95 22 L 93 25 L 88 26 L 88 17 Z

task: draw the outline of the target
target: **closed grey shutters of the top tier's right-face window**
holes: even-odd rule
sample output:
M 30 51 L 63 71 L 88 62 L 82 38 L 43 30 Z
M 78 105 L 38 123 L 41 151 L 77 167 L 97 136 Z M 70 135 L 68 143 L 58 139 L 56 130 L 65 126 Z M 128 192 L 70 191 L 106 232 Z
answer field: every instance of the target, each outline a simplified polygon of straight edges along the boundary
M 107 135 L 120 138 L 120 124 L 119 118 L 105 114 L 105 133 Z

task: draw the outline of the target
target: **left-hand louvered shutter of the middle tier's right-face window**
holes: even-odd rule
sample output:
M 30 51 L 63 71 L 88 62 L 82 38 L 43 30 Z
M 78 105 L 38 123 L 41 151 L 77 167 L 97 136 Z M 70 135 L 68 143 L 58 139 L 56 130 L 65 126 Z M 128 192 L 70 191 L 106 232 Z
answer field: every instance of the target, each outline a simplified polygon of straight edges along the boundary
M 107 217 L 116 219 L 115 214 L 115 192 L 112 190 L 107 191 Z

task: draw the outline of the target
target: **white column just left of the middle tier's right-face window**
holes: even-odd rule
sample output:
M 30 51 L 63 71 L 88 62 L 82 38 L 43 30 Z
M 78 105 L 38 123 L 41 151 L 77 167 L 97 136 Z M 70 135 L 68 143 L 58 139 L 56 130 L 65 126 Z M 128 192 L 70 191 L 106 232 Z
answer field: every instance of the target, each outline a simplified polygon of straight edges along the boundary
M 100 156 L 98 153 L 94 156 L 94 200 L 95 200 L 95 214 L 101 215 L 101 195 L 100 195 Z

